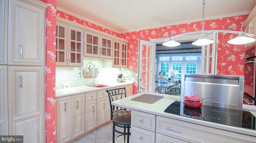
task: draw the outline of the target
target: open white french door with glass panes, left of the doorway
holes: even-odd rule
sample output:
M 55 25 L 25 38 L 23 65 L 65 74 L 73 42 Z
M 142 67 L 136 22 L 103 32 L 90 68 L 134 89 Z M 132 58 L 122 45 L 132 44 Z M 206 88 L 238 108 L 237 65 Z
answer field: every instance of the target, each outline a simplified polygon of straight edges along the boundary
M 138 93 L 154 92 L 156 43 L 139 40 Z

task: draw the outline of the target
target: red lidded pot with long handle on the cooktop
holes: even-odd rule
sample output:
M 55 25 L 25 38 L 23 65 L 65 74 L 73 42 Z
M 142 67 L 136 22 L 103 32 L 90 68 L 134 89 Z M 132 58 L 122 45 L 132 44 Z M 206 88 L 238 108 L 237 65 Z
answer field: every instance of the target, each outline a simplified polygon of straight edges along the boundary
M 211 96 L 207 98 L 212 98 L 216 96 Z M 206 99 L 206 98 L 203 98 Z M 185 96 L 184 97 L 184 105 L 190 108 L 200 108 L 202 106 L 202 100 L 200 97 L 195 96 L 194 93 L 191 93 L 190 96 Z

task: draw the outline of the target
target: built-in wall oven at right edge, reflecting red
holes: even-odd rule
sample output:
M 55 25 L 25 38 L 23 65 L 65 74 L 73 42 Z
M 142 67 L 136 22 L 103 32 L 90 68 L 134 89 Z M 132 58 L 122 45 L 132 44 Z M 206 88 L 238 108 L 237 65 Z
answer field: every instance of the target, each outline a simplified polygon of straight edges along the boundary
M 243 104 L 256 105 L 255 95 L 255 60 L 256 44 L 247 48 L 245 51 L 246 61 L 244 64 L 244 102 Z

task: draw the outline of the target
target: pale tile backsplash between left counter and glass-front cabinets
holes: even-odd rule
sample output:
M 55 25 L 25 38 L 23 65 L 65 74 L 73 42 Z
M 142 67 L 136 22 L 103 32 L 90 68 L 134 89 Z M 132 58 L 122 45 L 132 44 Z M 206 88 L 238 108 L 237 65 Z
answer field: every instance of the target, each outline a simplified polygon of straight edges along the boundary
M 112 60 L 84 58 L 83 67 L 85 68 L 88 63 L 92 63 L 95 68 L 98 68 L 99 74 L 94 80 L 100 84 L 117 82 L 118 73 L 127 74 L 124 73 L 126 70 L 123 68 L 112 68 Z M 69 82 L 71 87 L 93 82 L 93 78 L 84 78 L 81 73 L 81 68 L 82 67 L 56 67 L 56 88 L 63 88 L 63 82 Z

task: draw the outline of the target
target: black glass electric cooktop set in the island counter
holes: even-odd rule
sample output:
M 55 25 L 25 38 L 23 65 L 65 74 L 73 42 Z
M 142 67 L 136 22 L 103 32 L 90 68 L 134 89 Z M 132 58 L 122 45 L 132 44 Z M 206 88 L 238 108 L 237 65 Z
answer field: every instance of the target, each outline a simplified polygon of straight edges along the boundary
M 164 112 L 224 125 L 255 129 L 255 116 L 242 110 L 206 105 L 202 105 L 201 108 L 188 108 L 181 105 L 180 101 L 175 101 Z

